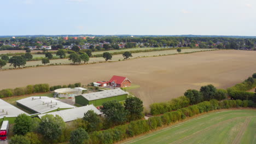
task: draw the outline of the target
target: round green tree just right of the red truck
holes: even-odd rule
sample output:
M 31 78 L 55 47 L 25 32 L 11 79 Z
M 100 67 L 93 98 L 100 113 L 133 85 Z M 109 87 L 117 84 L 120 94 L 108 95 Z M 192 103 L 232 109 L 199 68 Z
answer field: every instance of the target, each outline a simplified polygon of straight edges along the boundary
M 22 113 L 15 119 L 15 125 L 13 127 L 14 134 L 25 135 L 31 131 L 32 118 Z

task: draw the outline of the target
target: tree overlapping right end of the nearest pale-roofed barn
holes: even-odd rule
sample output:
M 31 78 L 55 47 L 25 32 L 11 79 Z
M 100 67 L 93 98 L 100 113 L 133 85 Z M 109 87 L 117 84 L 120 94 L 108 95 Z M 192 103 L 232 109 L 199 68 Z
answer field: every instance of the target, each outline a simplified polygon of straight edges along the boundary
M 93 110 L 84 113 L 83 119 L 87 122 L 87 131 L 91 132 L 101 129 L 101 119 Z

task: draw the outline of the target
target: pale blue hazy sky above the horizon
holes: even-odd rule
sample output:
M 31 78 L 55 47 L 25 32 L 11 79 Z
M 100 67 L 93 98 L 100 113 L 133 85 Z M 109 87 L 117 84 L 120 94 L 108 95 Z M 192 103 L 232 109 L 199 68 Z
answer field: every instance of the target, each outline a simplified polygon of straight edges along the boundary
M 255 0 L 0 0 L 0 35 L 256 36 Z

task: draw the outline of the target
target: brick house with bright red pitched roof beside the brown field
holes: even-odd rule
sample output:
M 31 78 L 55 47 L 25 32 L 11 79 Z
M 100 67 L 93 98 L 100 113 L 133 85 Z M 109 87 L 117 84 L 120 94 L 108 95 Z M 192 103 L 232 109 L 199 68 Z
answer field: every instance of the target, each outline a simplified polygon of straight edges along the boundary
M 114 75 L 109 80 L 109 85 L 114 87 L 130 87 L 131 81 L 127 77 Z

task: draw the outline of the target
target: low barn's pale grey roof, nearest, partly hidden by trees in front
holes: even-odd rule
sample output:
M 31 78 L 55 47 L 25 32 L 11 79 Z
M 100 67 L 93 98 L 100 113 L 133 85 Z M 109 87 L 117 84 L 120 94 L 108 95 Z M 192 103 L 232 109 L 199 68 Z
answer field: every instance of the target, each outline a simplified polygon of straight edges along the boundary
M 98 110 L 94 105 L 86 105 L 82 107 L 75 107 L 74 109 L 49 112 L 49 113 L 38 115 L 38 117 L 42 118 L 46 114 L 54 115 L 54 116 L 59 115 L 60 117 L 63 118 L 64 122 L 70 122 L 78 118 L 83 118 L 84 113 L 88 112 L 89 110 L 93 110 L 95 113 L 97 113 L 97 115 L 102 114 L 100 110 Z

